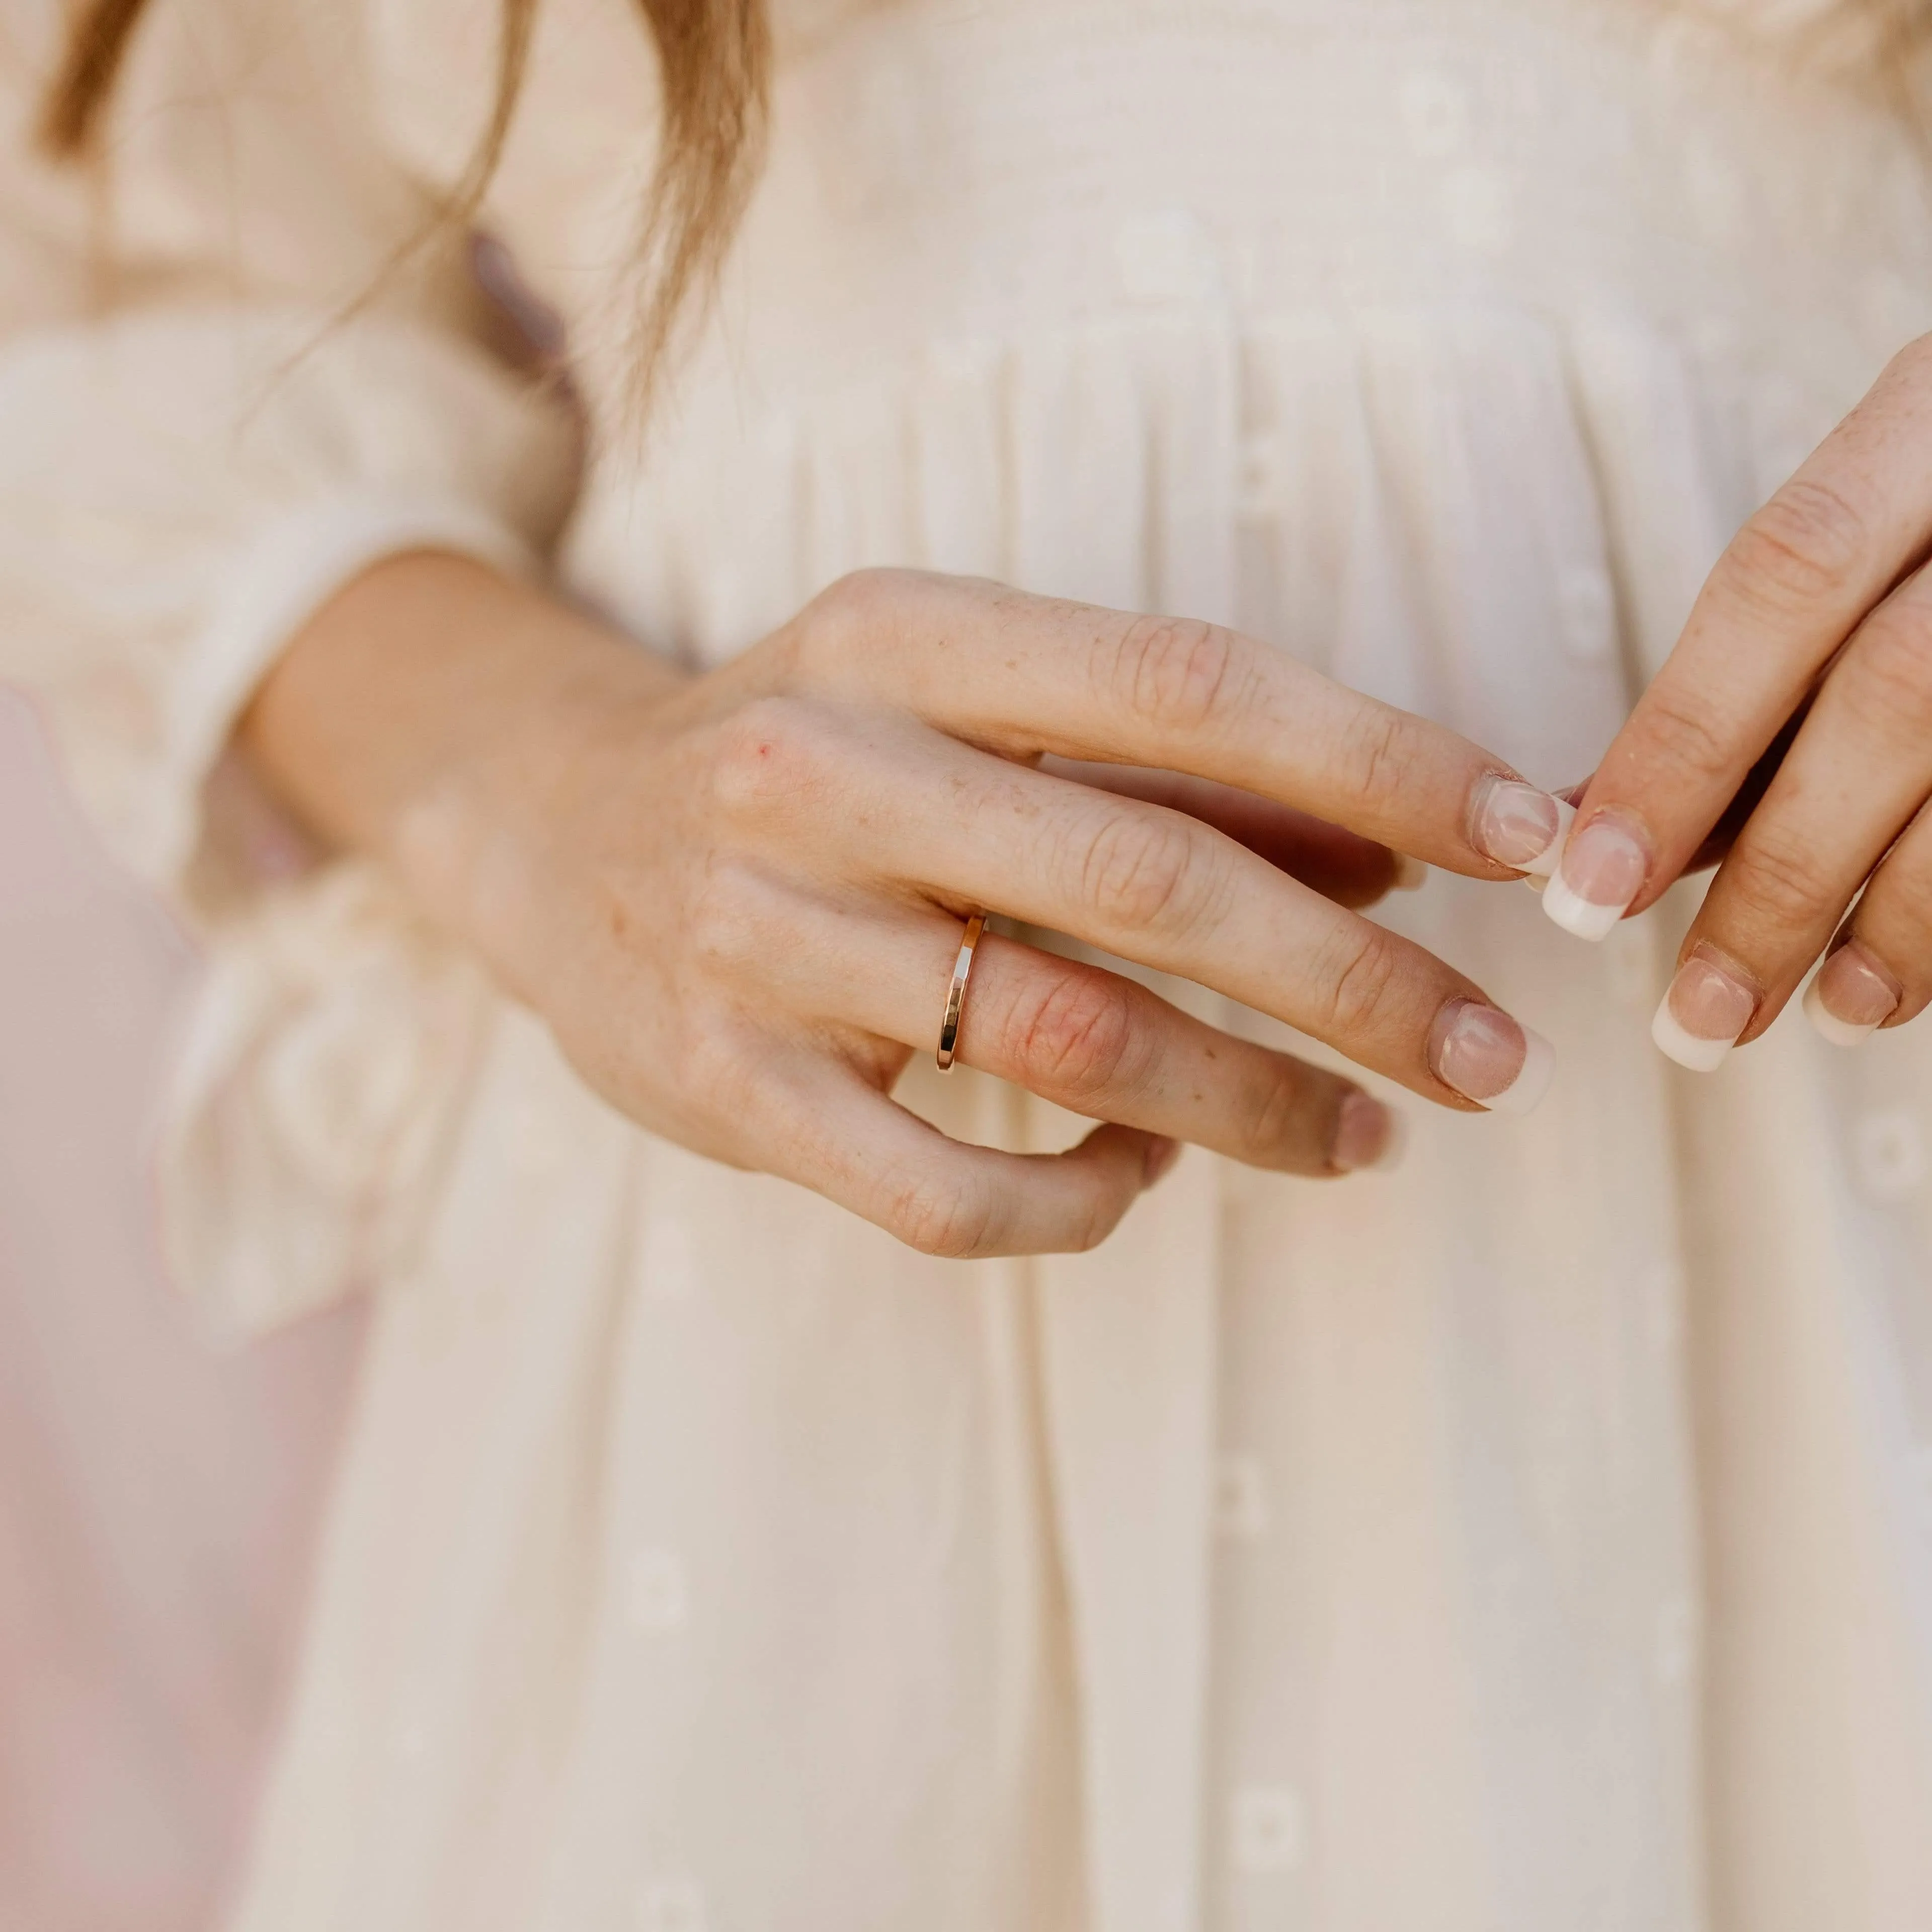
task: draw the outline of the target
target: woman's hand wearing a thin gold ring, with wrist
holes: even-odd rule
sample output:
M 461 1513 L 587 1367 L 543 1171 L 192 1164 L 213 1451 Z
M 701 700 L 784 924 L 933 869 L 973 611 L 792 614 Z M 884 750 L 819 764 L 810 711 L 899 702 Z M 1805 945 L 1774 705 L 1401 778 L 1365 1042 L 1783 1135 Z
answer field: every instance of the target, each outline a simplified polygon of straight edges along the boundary
M 1180 1140 L 1335 1175 L 1395 1134 L 1349 1080 L 987 935 L 958 1057 L 1107 1124 L 1055 1157 L 945 1138 L 889 1095 L 933 1049 L 980 906 L 1217 987 L 1443 1105 L 1526 1105 L 1548 1078 L 1478 987 L 1291 871 L 1362 900 L 1393 848 L 1507 879 L 1553 846 L 1553 802 L 1206 624 L 866 572 L 682 678 L 479 566 L 412 556 L 311 622 L 245 738 L 307 817 L 390 854 L 624 1113 L 933 1254 L 1086 1248 Z

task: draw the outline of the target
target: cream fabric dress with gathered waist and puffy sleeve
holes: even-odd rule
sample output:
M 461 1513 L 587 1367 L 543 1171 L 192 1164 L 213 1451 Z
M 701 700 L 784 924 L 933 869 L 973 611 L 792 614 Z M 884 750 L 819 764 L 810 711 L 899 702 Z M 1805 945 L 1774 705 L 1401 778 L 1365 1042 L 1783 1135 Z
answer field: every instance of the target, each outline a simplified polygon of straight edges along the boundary
M 1932 325 L 1917 149 L 1781 23 L 1640 0 L 779 23 L 639 440 L 647 41 L 547 0 L 487 222 L 570 328 L 576 497 L 466 286 L 327 327 L 460 174 L 485 0 L 158 0 L 122 307 L 0 355 L 0 665 L 213 952 L 176 1265 L 243 1327 L 377 1298 L 238 1926 L 1922 1932 L 1932 1034 L 1679 1074 L 1683 908 L 1588 949 L 1437 877 L 1387 916 L 1555 1039 L 1534 1119 L 1408 1103 L 1339 1186 L 1188 1153 L 1092 1256 L 941 1264 L 638 1132 L 207 782 L 425 541 L 692 665 L 877 562 L 1225 618 L 1573 781 Z

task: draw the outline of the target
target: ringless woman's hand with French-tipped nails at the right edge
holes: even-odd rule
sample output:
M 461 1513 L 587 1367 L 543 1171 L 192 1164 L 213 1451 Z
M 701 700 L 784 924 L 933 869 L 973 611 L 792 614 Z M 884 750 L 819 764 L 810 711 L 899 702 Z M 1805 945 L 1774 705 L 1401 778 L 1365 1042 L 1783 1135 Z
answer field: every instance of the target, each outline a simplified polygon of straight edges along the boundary
M 1685 1066 L 1762 1034 L 1833 933 L 1806 995 L 1828 1039 L 1932 1001 L 1928 547 L 1932 336 L 1737 533 L 1544 893 L 1559 925 L 1602 939 L 1741 819 L 1658 1009 Z

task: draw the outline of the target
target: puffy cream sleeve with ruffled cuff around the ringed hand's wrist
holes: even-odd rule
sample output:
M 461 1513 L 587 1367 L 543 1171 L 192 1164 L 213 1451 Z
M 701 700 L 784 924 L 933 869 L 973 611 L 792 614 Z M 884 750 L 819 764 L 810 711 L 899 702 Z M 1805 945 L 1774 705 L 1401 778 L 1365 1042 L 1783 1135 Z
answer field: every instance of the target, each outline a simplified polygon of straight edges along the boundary
M 543 572 L 578 437 L 558 390 L 487 346 L 462 251 L 413 245 L 435 185 L 384 156 L 348 8 L 153 15 L 112 143 L 110 301 L 50 321 L 21 292 L 0 344 L 0 678 L 207 945 L 162 1223 L 184 1283 L 259 1325 L 408 1269 L 489 993 L 375 867 L 282 864 L 224 746 L 371 562 L 435 547 Z M 12 232 L 29 211 L 37 259 L 85 257 L 83 199 L 19 158 L 25 95 L 12 73 Z

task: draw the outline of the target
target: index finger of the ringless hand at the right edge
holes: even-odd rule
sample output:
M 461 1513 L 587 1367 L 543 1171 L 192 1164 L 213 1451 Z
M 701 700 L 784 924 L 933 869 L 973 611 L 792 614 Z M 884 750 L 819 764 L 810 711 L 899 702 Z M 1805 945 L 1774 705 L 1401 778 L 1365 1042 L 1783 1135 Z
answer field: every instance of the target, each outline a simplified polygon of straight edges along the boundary
M 1932 535 L 1932 336 L 1731 539 L 1588 790 L 1544 908 L 1602 939 L 1689 869 L 1818 674 Z

